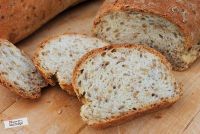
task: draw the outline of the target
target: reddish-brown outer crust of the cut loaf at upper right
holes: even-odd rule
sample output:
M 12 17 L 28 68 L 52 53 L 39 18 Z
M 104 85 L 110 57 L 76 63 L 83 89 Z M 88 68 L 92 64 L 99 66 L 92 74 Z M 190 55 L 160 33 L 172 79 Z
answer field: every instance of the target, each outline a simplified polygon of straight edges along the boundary
M 177 11 L 176 11 L 177 10 Z M 180 10 L 180 11 L 179 11 Z M 200 41 L 200 2 L 198 0 L 177 2 L 169 0 L 106 0 L 94 21 L 96 26 L 101 17 L 113 11 L 138 11 L 154 14 L 175 24 L 185 38 L 185 47 L 191 48 Z

